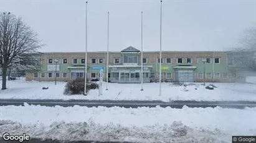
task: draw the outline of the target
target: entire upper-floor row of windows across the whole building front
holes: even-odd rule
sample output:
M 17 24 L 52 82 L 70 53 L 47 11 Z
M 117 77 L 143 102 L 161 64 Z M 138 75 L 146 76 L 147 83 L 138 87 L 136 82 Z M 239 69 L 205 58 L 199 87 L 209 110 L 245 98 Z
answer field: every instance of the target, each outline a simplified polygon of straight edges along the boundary
M 129 61 L 133 61 L 133 62 L 136 63 L 137 61 L 135 61 L 133 59 L 136 59 L 136 58 L 131 58 L 131 59 L 127 58 L 127 60 L 124 59 L 125 60 L 124 63 L 128 63 Z M 201 64 L 203 59 L 204 58 L 197 58 L 197 63 Z M 209 64 L 212 63 L 212 58 L 205 58 L 205 59 L 206 59 L 206 63 L 209 63 Z M 68 59 L 62 59 L 62 64 L 67 64 L 68 63 L 67 60 Z M 192 64 L 192 58 L 177 58 L 176 61 L 177 61 L 178 64 L 183 64 L 183 63 Z M 59 59 L 57 59 L 57 62 L 60 64 Z M 148 58 L 143 58 L 142 62 L 143 62 L 143 64 L 148 63 Z M 214 58 L 213 62 L 215 64 L 219 64 L 220 63 L 220 58 Z M 52 64 L 52 63 L 53 63 L 53 59 L 48 59 L 48 64 Z M 78 59 L 72 59 L 72 63 L 73 64 L 78 64 Z M 85 64 L 85 59 L 80 59 L 79 63 L 80 64 Z M 104 63 L 104 58 L 98 58 L 98 60 L 96 58 L 92 58 L 90 60 L 90 63 L 91 64 L 97 64 L 97 63 L 98 64 L 103 64 Z M 120 64 L 120 58 L 114 58 L 114 63 L 115 64 Z M 158 63 L 160 63 L 160 58 L 158 58 Z M 163 63 L 163 58 L 161 58 L 161 63 Z M 165 58 L 165 63 L 166 64 L 173 63 L 172 58 Z

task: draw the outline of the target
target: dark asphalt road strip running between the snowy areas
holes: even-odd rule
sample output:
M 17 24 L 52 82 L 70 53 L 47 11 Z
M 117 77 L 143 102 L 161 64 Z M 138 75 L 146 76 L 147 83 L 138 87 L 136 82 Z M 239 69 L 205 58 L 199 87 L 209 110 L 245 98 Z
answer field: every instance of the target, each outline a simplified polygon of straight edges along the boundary
M 237 108 L 244 109 L 247 107 L 256 107 L 256 102 L 196 102 L 196 101 L 174 101 L 174 102 L 161 102 L 161 101 L 112 101 L 112 100 L 26 100 L 26 99 L 0 99 L 0 106 L 16 105 L 24 106 L 24 103 L 29 105 L 41 105 L 41 106 L 120 106 L 124 108 L 138 108 L 142 106 L 146 107 L 171 107 L 171 108 L 183 108 L 184 105 L 191 108 L 215 108 L 220 106 L 222 108 Z

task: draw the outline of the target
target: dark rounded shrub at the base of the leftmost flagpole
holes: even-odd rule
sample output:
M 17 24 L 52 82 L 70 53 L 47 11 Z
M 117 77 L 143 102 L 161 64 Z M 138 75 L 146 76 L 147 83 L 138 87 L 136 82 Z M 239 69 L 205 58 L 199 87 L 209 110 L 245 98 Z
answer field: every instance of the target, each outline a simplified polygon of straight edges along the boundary
M 87 92 L 91 89 L 98 89 L 98 84 L 95 82 L 87 82 L 86 90 Z M 83 90 L 85 90 L 85 80 L 84 79 L 75 79 L 70 80 L 65 85 L 64 94 L 83 94 Z

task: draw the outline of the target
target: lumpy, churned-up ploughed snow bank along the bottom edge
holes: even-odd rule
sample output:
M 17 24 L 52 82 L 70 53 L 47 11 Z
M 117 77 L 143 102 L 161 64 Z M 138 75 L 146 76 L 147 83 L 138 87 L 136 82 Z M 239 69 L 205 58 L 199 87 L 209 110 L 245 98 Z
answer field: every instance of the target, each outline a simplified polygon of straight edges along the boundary
M 143 128 L 124 127 L 120 124 L 95 123 L 52 123 L 50 126 L 34 124 L 24 126 L 21 123 L 0 121 L 0 132 L 22 134 L 37 139 L 57 139 L 60 141 L 129 141 L 129 142 L 225 142 L 223 133 L 199 131 L 188 128 L 181 122 L 171 126 L 145 126 Z M 219 137 L 217 137 L 219 136 Z

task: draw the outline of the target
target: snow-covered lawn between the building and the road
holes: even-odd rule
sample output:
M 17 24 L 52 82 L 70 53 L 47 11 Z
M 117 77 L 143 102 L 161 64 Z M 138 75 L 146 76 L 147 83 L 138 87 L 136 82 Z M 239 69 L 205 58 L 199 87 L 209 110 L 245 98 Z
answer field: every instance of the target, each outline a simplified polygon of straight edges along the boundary
M 1 84 L 1 83 L 0 83 Z M 23 80 L 7 81 L 7 90 L 0 90 L 0 98 L 27 99 L 85 99 L 85 100 L 196 100 L 196 101 L 255 101 L 256 84 L 214 83 L 214 90 L 205 89 L 202 83 L 191 83 L 187 87 L 162 83 L 162 95 L 159 96 L 159 83 L 144 84 L 108 84 L 103 82 L 103 95 L 98 90 L 90 90 L 87 96 L 64 95 L 65 82 L 26 82 Z M 207 85 L 211 83 L 206 83 Z M 42 90 L 42 87 L 49 87 Z M 187 91 L 188 90 L 188 91 Z

